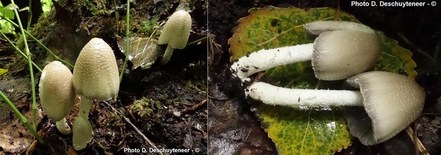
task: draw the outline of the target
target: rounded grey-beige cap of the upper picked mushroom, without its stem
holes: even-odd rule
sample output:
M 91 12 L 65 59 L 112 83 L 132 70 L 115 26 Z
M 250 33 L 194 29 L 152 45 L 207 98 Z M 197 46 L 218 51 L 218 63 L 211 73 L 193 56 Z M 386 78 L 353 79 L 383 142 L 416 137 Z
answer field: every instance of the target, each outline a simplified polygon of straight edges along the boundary
M 381 42 L 375 33 L 359 30 L 322 32 L 314 41 L 312 66 L 321 80 L 341 80 L 375 65 Z

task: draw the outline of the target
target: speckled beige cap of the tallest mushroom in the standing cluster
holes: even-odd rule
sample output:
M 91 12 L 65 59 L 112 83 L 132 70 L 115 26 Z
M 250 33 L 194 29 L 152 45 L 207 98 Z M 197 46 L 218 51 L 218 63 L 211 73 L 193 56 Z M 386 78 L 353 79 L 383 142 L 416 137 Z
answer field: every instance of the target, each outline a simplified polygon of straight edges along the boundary
M 81 50 L 73 68 L 73 86 L 78 95 L 104 101 L 118 94 L 118 66 L 112 48 L 94 38 Z

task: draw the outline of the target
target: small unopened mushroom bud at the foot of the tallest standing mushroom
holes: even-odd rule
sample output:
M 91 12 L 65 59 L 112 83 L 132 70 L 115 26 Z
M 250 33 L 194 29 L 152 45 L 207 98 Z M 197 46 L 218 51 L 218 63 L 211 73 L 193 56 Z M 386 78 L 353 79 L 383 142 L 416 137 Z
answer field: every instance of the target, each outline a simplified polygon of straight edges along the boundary
M 82 150 L 92 140 L 92 125 L 84 117 L 76 117 L 73 121 L 73 148 Z

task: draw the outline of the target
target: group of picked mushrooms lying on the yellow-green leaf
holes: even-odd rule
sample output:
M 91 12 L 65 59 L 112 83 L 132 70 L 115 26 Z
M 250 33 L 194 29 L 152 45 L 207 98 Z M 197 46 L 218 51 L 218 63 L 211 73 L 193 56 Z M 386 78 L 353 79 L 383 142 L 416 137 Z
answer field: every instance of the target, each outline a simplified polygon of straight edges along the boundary
M 344 114 L 350 133 L 364 145 L 382 143 L 409 126 L 422 111 L 424 90 L 407 76 L 369 71 L 381 42 L 370 27 L 344 21 L 307 23 L 313 44 L 263 49 L 238 59 L 231 70 L 243 82 L 275 66 L 311 60 L 320 80 L 342 80 L 360 91 L 287 89 L 254 82 L 245 95 L 269 105 L 290 107 L 353 106 Z M 363 109 L 364 107 L 364 109 Z

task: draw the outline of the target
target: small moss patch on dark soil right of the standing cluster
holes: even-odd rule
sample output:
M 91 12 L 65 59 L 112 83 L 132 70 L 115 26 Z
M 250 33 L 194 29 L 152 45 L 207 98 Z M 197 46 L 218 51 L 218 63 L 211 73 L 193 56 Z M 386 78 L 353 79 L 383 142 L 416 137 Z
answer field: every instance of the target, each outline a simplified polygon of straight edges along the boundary
M 147 99 L 143 97 L 140 100 L 135 100 L 129 106 L 133 114 L 138 116 L 141 120 L 149 120 L 159 117 L 164 112 L 163 104 L 158 101 Z

